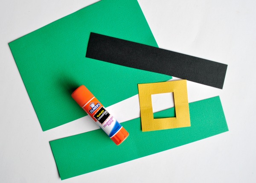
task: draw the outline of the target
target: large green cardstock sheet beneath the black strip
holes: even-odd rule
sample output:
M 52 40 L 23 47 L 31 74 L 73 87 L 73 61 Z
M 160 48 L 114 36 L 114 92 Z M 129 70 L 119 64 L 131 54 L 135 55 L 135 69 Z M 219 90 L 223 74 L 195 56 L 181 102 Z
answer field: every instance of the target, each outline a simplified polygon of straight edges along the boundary
M 86 115 L 71 98 L 82 84 L 107 107 L 172 78 L 86 58 L 90 32 L 157 46 L 137 0 L 99 1 L 11 42 L 43 131 Z

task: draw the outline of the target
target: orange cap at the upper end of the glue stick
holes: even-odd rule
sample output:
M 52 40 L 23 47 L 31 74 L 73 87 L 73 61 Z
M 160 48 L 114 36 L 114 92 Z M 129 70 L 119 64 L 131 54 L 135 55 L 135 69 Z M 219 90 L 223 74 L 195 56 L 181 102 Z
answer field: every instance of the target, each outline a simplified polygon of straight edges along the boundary
M 78 87 L 71 96 L 78 105 L 80 105 L 80 107 L 84 107 L 84 105 L 94 97 L 90 90 L 88 90 L 84 85 Z

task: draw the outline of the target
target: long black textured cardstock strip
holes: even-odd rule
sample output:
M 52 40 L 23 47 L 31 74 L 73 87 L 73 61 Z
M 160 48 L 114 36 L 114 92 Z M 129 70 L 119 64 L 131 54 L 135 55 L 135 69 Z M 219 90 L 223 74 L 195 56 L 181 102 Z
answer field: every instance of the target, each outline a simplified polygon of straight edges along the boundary
M 86 57 L 222 89 L 227 65 L 155 46 L 91 33 Z

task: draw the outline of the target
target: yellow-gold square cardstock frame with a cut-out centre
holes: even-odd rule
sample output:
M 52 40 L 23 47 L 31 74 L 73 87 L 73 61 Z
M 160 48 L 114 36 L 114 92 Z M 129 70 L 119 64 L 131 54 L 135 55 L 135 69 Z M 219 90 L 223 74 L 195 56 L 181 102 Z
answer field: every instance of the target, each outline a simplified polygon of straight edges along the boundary
M 142 131 L 190 126 L 186 80 L 138 84 L 138 88 Z M 154 119 L 151 95 L 171 92 L 174 96 L 175 117 Z

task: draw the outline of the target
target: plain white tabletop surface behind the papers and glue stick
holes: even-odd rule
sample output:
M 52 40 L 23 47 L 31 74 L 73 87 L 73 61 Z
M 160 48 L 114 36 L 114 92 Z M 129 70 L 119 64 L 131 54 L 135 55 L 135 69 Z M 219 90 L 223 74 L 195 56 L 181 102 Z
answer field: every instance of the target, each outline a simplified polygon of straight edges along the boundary
M 256 1 L 138 0 L 160 48 L 228 64 L 223 90 L 188 81 L 189 102 L 221 97 L 229 132 L 63 180 L 91 182 L 256 182 Z M 91 131 L 87 116 L 43 132 L 8 43 L 96 0 L 1 0 L 0 182 L 61 182 L 49 141 Z M 154 110 L 172 97 L 154 98 Z M 157 103 L 164 104 L 162 108 Z M 120 106 L 130 110 L 125 115 Z M 138 97 L 108 110 L 120 122 L 140 116 Z M 115 178 L 107 176 L 115 174 Z

